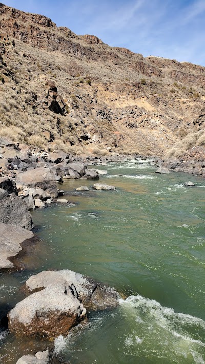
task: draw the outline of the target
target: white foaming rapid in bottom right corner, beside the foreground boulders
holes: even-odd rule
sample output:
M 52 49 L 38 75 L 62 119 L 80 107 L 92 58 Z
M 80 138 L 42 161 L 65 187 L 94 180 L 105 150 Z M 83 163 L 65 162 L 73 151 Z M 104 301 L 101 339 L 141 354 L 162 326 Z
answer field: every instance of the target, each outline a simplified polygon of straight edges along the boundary
M 204 336 L 202 319 L 174 312 L 153 299 L 132 295 L 120 299 L 114 311 L 92 314 L 88 324 L 74 328 L 66 338 L 56 338 L 55 352 L 72 358 L 74 363 L 85 364 L 204 364 Z M 108 355 L 111 346 L 113 350 Z M 92 361 L 93 356 L 96 359 Z

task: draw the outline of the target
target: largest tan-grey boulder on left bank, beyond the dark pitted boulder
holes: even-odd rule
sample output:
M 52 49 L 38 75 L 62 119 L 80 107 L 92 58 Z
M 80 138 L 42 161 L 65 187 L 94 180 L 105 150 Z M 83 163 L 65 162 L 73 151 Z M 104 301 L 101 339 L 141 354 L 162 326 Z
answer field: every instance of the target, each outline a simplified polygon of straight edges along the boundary
M 30 188 L 42 188 L 51 197 L 57 197 L 55 176 L 49 168 L 35 168 L 18 173 L 16 183 Z

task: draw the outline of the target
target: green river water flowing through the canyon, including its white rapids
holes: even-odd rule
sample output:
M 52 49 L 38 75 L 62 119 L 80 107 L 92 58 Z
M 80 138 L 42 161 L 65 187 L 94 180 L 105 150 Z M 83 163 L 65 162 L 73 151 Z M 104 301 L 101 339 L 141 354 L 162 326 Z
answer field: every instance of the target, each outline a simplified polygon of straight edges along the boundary
M 158 175 L 143 162 L 99 167 L 108 170 L 100 182 L 116 191 L 75 192 L 91 180 L 61 185 L 73 205 L 34 211 L 42 241 L 25 258 L 29 269 L 0 276 L 2 312 L 24 297 L 19 287 L 27 277 L 43 269 L 87 274 L 128 297 L 55 340 L 56 353 L 72 364 L 205 363 L 205 181 Z M 196 186 L 185 187 L 189 180 Z M 9 364 L 42 345 L 7 331 L 0 342 L 0 358 Z

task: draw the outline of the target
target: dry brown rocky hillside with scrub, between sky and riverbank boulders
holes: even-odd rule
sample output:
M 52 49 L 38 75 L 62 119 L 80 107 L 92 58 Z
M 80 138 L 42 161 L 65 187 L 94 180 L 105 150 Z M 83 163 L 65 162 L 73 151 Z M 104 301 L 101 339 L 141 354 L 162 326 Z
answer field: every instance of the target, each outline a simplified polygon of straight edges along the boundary
M 76 154 L 204 155 L 204 67 L 3 4 L 0 28 L 0 136 Z

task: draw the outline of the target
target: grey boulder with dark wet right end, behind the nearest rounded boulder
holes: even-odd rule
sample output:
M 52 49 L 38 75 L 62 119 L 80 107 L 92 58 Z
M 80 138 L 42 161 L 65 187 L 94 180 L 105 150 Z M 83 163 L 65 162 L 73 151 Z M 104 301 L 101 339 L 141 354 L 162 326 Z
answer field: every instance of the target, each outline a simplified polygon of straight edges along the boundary
M 75 292 L 76 297 L 87 309 L 105 310 L 118 305 L 119 294 L 114 288 L 100 284 L 85 275 L 69 269 L 56 272 L 43 271 L 32 275 L 26 281 L 26 287 L 29 292 L 35 292 L 51 285 L 58 285 L 60 282 L 67 282 L 73 292 Z

